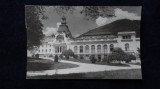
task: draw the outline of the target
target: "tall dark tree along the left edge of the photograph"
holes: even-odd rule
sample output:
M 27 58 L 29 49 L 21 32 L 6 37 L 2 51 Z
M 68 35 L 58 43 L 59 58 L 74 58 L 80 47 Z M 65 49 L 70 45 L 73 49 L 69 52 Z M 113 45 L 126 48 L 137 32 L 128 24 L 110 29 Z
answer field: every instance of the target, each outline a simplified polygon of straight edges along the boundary
M 27 48 L 33 49 L 41 44 L 43 38 L 42 27 L 40 17 L 43 16 L 43 8 L 40 6 L 26 6 L 25 7 L 25 21 L 27 30 Z

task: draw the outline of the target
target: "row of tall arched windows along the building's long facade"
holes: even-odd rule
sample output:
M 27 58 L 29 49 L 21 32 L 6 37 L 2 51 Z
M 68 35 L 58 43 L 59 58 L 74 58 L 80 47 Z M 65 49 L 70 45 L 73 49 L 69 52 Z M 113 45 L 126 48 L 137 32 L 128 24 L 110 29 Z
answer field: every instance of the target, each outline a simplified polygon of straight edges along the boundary
M 97 49 L 95 49 L 95 45 L 91 45 L 91 53 L 95 53 L 95 50 L 97 50 L 97 53 L 101 53 L 101 45 L 97 45 Z M 114 45 L 110 45 L 110 51 L 112 51 L 114 48 Z M 107 53 L 107 45 L 103 45 L 103 52 Z M 74 53 L 78 53 L 78 46 L 74 46 Z M 79 46 L 79 53 L 89 53 L 89 46 Z

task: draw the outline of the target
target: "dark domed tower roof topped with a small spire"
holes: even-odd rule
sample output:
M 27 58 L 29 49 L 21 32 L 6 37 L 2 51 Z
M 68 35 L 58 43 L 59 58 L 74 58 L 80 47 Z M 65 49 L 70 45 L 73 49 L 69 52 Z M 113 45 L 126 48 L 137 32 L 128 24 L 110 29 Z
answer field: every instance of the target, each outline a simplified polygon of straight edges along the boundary
M 65 18 L 65 17 L 62 17 L 62 22 L 61 22 L 61 25 L 59 26 L 57 32 L 58 32 L 58 33 L 64 32 L 64 33 L 65 33 L 66 35 L 68 35 L 69 37 L 72 37 L 71 32 L 69 31 L 69 28 L 68 28 L 68 26 L 66 25 L 66 18 Z

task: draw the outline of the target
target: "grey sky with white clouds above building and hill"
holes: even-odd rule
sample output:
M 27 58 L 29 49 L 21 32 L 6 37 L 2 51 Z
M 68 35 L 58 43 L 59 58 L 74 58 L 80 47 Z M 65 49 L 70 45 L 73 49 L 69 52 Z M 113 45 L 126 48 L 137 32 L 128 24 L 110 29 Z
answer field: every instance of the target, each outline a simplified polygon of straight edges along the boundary
M 43 20 L 44 25 L 43 33 L 46 36 L 55 34 L 58 26 L 61 24 L 61 16 L 53 10 L 53 6 L 45 7 L 45 15 L 48 19 Z M 96 20 L 86 20 L 85 15 L 80 14 L 81 6 L 76 6 L 73 14 L 67 14 L 66 22 L 73 37 L 77 37 L 91 29 L 109 24 L 119 19 L 140 20 L 141 19 L 141 6 L 112 6 L 111 10 L 114 11 L 115 17 L 101 17 Z

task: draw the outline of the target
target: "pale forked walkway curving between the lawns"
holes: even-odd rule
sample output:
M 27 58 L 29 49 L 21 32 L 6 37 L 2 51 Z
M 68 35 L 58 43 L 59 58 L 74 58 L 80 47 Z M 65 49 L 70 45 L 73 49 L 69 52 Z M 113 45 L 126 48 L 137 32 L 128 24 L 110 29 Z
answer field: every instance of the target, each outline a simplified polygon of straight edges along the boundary
M 44 58 L 44 59 L 54 60 L 52 58 Z M 58 70 L 27 71 L 27 76 L 86 73 L 86 72 L 99 72 L 99 71 L 141 68 L 141 66 L 138 66 L 138 65 L 130 65 L 130 67 L 119 67 L 119 66 L 79 63 L 79 62 L 72 62 L 72 61 L 66 61 L 66 60 L 61 60 L 60 62 L 76 64 L 76 65 L 79 65 L 79 67 L 68 68 L 68 69 L 58 69 Z

